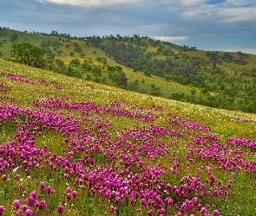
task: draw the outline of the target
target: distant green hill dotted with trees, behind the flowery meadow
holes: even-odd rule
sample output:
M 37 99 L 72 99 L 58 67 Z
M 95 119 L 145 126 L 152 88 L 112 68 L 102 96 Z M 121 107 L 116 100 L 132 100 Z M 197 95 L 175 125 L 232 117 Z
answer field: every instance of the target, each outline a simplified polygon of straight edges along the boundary
M 256 55 L 209 52 L 140 35 L 81 38 L 0 29 L 0 58 L 14 43 L 43 50 L 45 69 L 129 91 L 256 112 Z

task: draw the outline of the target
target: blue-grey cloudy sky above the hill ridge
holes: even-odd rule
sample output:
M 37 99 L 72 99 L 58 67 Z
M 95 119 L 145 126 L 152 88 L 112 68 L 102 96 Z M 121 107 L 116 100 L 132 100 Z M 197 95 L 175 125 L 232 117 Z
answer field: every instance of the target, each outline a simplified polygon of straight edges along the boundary
M 255 0 L 0 0 L 0 26 L 73 36 L 141 35 L 256 54 Z

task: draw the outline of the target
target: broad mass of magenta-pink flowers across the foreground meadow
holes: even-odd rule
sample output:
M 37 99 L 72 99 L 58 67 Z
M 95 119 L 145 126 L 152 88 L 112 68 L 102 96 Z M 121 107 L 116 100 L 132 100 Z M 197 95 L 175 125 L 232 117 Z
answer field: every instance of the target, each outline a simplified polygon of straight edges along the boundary
M 68 98 L 58 97 L 37 99 L 30 105 L 23 108 L 0 103 L 0 123 L 9 121 L 16 126 L 13 139 L 0 145 L 2 181 L 15 168 L 26 175 L 34 169 L 57 172 L 73 182 L 62 195 L 68 204 L 83 189 L 108 200 L 110 213 L 119 205 L 130 203 L 140 206 L 138 212 L 147 209 L 148 215 L 168 215 L 172 208 L 174 215 L 218 216 L 219 211 L 213 203 L 205 205 L 206 200 L 225 199 L 231 192 L 232 181 L 218 180 L 213 164 L 230 172 L 242 168 L 256 173 L 256 162 L 246 160 L 242 150 L 228 148 L 228 145 L 240 147 L 241 143 L 253 146 L 254 141 L 232 137 L 226 144 L 220 143 L 219 137 L 208 133 L 209 127 L 187 120 L 164 118 L 161 125 L 155 124 L 155 112 L 162 112 L 160 106 L 134 105 L 128 109 L 123 108 L 125 101 L 114 100 L 108 107 L 82 101 L 72 104 Z M 69 111 L 79 114 L 73 116 Z M 111 116 L 135 118 L 144 125 L 116 129 L 111 125 Z M 174 130 L 173 124 L 179 130 Z M 63 136 L 62 143 L 57 143 L 62 147 L 61 152 L 49 152 L 47 143 L 41 148 L 36 146 L 36 136 L 43 137 L 47 131 Z M 184 158 L 174 150 L 180 137 L 189 140 L 183 149 Z M 181 171 L 193 167 L 196 160 L 207 165 L 195 169 L 194 175 L 187 173 L 174 181 Z M 20 175 L 15 175 L 15 180 L 19 179 Z M 46 201 L 39 199 L 39 193 L 51 195 L 55 190 L 41 181 L 38 190 L 12 202 L 12 211 L 16 215 L 44 211 Z M 0 206 L 0 215 L 4 209 Z M 59 214 L 65 209 L 61 203 L 55 206 Z

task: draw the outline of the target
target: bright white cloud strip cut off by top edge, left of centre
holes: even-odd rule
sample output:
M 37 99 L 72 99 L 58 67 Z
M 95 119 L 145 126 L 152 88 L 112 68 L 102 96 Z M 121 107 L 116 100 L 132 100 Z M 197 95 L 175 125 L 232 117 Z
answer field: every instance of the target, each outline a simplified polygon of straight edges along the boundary
M 36 0 L 39 3 L 69 4 L 74 6 L 106 6 L 113 4 L 139 3 L 141 0 Z

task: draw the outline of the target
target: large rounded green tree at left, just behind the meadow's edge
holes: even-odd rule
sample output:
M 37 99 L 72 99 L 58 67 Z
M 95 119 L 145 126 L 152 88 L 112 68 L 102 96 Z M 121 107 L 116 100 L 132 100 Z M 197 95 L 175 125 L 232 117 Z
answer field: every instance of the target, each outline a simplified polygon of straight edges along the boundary
M 30 67 L 45 67 L 43 51 L 30 43 L 16 43 L 10 50 L 14 61 Z

